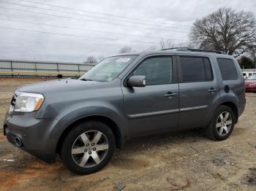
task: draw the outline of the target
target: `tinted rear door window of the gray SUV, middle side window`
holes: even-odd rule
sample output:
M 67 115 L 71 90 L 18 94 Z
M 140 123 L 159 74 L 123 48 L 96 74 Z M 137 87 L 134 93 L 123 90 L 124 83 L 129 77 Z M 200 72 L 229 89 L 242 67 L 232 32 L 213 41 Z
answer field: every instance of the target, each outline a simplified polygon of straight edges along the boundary
M 180 57 L 182 82 L 206 82 L 213 79 L 208 58 Z

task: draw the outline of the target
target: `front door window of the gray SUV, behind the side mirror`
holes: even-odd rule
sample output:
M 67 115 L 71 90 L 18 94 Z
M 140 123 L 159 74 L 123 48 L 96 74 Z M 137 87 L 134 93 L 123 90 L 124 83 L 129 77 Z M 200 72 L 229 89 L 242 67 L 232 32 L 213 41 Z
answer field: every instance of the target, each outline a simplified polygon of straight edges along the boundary
M 157 57 L 148 58 L 140 63 L 133 75 L 146 76 L 146 85 L 160 85 L 172 82 L 172 73 L 172 58 Z

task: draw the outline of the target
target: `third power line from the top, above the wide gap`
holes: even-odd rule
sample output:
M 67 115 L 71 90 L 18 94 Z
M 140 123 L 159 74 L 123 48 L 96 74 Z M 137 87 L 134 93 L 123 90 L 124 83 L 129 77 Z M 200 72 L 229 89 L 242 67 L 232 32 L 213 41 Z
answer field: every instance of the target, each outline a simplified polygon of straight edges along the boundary
M 34 11 L 23 10 L 23 9 L 15 9 L 15 8 L 10 8 L 10 7 L 0 7 L 0 8 L 12 9 L 12 10 L 21 11 L 21 12 L 31 12 L 31 13 L 36 13 L 36 14 L 39 14 L 39 15 L 48 15 L 48 16 L 53 16 L 53 17 L 63 17 L 63 18 L 68 18 L 68 19 L 73 19 L 73 20 L 85 20 L 85 21 L 89 21 L 89 22 L 93 22 L 93 23 L 104 23 L 104 24 L 108 24 L 108 25 L 127 26 L 127 27 L 131 26 L 131 25 L 123 25 L 121 23 L 108 23 L 108 22 L 103 22 L 103 21 L 99 21 L 99 20 L 89 20 L 89 19 L 84 19 L 84 18 L 67 17 L 67 16 L 54 15 L 54 14 L 43 13 L 43 12 L 34 12 Z M 160 28 L 148 28 L 148 27 L 143 27 L 143 26 L 132 26 L 132 27 L 146 28 L 146 29 L 155 30 L 155 31 L 168 31 L 168 32 L 186 33 L 187 34 L 187 32 L 185 32 L 185 31 L 170 31 L 170 30 L 164 29 L 164 28 L 162 28 L 162 29 L 160 29 Z

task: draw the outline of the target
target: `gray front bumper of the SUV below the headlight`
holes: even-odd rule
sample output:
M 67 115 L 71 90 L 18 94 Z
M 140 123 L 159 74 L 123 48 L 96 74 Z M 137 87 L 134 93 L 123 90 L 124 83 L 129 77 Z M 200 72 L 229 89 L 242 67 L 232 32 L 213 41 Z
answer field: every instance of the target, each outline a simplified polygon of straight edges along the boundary
M 36 112 L 6 114 L 4 135 L 14 146 L 16 146 L 14 139 L 18 136 L 22 142 L 18 148 L 39 157 L 46 163 L 55 163 L 57 140 L 51 136 L 51 131 L 58 120 L 36 119 L 35 115 Z

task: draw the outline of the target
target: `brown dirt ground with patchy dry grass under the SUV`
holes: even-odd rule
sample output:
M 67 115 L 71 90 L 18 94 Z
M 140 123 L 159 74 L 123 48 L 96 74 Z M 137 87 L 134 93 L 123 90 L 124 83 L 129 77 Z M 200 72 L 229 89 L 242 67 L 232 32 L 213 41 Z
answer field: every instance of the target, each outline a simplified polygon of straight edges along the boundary
M 0 79 L 0 124 L 15 88 L 42 80 Z M 20 151 L 2 131 L 0 190 L 256 190 L 256 93 L 246 93 L 246 110 L 225 141 L 200 130 L 135 139 L 86 176 Z

